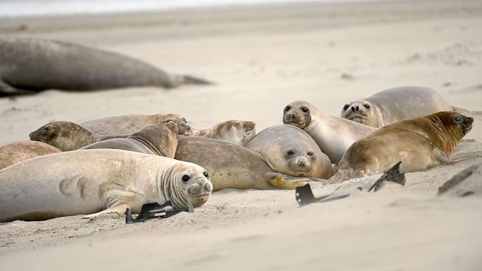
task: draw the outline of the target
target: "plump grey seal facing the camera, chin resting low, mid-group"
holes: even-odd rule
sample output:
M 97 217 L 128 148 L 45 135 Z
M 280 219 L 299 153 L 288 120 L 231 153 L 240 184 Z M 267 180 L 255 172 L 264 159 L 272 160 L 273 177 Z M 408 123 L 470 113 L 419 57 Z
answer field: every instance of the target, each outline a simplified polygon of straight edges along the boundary
M 276 172 L 299 177 L 330 178 L 336 172 L 330 158 L 302 129 L 275 125 L 262 130 L 245 146 Z

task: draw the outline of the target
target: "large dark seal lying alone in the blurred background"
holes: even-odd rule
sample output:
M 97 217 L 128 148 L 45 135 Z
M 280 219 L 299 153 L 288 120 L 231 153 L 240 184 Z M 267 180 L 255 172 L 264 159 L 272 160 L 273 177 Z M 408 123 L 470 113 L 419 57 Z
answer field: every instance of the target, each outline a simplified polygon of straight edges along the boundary
M 89 91 L 209 84 L 192 76 L 167 74 L 118 53 L 56 40 L 0 39 L 0 59 L 0 96 L 44 89 Z

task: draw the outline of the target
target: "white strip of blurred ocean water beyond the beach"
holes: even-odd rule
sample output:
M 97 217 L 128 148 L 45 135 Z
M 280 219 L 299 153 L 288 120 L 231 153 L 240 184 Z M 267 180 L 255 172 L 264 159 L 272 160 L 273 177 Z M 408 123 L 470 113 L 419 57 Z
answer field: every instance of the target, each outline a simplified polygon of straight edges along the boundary
M 0 0 L 0 17 L 216 9 L 263 4 L 354 1 L 362 0 Z

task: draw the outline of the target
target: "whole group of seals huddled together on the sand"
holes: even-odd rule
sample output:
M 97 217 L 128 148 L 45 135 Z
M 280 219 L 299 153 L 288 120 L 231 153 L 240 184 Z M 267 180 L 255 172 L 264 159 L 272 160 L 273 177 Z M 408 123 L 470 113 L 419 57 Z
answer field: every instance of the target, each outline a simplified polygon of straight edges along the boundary
M 78 49 L 55 46 L 62 53 Z M 168 200 L 176 208 L 201 206 L 224 188 L 331 184 L 399 161 L 402 172 L 422 171 L 450 163 L 472 128 L 473 118 L 451 110 L 433 89 L 400 87 L 346 104 L 342 118 L 292 102 L 282 125 L 257 135 L 253 122 L 193 131 L 167 113 L 51 122 L 31 132 L 31 141 L 0 148 L 0 222 L 138 213 L 145 203 Z

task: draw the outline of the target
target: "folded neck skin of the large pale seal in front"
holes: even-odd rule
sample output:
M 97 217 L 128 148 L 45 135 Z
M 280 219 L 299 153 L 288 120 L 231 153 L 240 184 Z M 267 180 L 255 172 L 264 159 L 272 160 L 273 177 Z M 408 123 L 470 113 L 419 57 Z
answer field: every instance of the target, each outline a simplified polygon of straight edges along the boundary
M 171 200 L 177 209 L 187 207 L 187 192 L 182 187 L 177 187 L 176 180 L 179 178 L 180 171 L 176 170 L 176 165 L 159 167 L 157 172 L 157 192 L 159 194 L 159 204 Z

